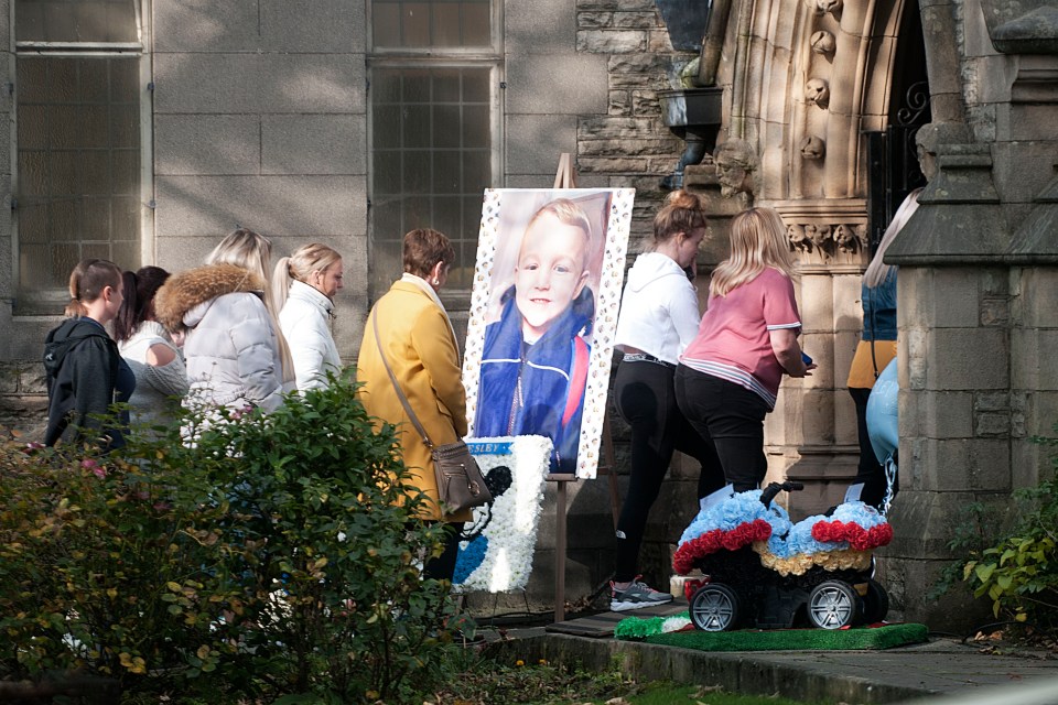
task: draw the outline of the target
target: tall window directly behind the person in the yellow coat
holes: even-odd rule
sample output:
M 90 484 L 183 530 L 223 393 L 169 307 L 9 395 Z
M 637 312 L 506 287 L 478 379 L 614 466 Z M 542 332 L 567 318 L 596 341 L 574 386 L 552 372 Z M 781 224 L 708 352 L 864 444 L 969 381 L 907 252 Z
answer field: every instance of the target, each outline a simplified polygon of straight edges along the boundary
M 498 170 L 499 87 L 489 0 L 371 2 L 371 285 L 401 271 L 404 232 L 447 235 L 450 286 L 469 289 L 482 193 Z

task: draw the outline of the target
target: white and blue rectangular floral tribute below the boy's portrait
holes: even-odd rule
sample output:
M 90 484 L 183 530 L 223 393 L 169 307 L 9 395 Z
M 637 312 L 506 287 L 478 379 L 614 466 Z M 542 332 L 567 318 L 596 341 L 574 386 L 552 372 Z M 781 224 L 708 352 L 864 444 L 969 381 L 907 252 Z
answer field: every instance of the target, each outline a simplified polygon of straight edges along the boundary
M 464 590 L 523 589 L 532 572 L 551 440 L 505 436 L 467 441 L 494 501 L 464 528 L 453 584 Z

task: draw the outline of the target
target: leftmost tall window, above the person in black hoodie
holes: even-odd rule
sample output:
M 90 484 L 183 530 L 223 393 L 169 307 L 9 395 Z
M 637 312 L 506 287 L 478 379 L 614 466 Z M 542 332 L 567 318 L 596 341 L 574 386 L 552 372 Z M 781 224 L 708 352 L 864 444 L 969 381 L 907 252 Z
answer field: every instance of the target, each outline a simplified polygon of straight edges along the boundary
M 65 297 L 86 257 L 136 269 L 143 218 L 139 0 L 17 0 L 20 308 Z

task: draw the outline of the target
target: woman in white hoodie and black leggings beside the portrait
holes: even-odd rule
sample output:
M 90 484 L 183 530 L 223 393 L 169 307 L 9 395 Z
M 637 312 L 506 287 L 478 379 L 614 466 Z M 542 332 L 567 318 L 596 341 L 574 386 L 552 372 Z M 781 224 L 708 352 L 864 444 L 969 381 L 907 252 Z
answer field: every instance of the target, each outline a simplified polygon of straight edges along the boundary
M 672 452 L 693 456 L 703 467 L 711 453 L 676 405 L 673 376 L 683 348 L 698 335 L 698 292 L 693 271 L 705 237 L 704 204 L 676 191 L 654 218 L 654 237 L 628 272 L 617 318 L 616 346 L 625 357 L 617 368 L 617 411 L 631 426 L 628 494 L 617 521 L 617 555 L 611 583 L 611 609 L 622 611 L 672 599 L 639 579 L 639 545 L 650 507 L 658 498 Z M 698 496 L 722 488 L 723 477 L 699 478 Z

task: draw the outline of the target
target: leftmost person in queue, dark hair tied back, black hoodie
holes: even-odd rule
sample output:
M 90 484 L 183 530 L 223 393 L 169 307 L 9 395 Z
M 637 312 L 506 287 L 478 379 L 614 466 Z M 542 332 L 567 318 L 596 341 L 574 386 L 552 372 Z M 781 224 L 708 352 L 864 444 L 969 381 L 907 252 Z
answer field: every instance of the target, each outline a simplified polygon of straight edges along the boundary
M 47 376 L 47 429 L 44 444 L 89 441 L 105 449 L 125 445 L 121 427 L 105 424 L 110 405 L 123 402 L 136 389 L 132 370 L 104 326 L 118 314 L 122 301 L 121 270 L 107 260 L 82 260 L 69 275 L 69 316 L 47 334 L 44 370 Z

